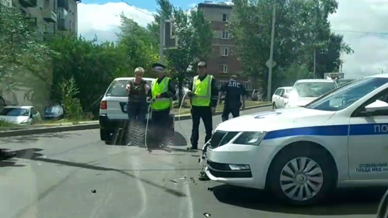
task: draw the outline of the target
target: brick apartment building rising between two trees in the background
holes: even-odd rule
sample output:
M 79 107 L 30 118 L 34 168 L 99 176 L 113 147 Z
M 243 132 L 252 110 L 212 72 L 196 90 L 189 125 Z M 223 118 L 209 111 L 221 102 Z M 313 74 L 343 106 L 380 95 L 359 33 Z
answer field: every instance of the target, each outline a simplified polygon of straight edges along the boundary
M 225 2 L 210 2 L 198 4 L 206 20 L 211 22 L 213 35 L 213 50 L 208 64 L 208 73 L 215 76 L 220 86 L 224 81 L 230 79 L 232 74 L 241 73 L 241 62 L 237 59 L 236 45 L 230 38 L 227 30 L 227 23 L 233 9 L 233 5 Z M 244 81 L 244 78 L 241 78 Z M 251 89 L 251 85 L 245 82 L 245 87 Z

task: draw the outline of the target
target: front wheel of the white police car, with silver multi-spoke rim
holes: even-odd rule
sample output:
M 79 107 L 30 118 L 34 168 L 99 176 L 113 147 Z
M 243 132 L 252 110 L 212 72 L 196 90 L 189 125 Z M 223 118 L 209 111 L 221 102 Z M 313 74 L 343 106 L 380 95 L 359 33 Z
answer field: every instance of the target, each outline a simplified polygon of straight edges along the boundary
M 268 169 L 267 188 L 278 199 L 292 205 L 321 201 L 336 184 L 336 166 L 327 153 L 325 149 L 310 145 L 282 149 Z

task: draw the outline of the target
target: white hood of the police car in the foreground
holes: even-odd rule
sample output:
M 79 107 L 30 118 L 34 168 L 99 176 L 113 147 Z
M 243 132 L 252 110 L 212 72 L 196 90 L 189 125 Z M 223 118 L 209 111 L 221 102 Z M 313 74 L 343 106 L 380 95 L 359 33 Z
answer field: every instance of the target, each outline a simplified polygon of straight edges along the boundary
M 273 131 L 324 125 L 335 112 L 303 107 L 277 109 L 230 119 L 217 126 L 221 131 Z

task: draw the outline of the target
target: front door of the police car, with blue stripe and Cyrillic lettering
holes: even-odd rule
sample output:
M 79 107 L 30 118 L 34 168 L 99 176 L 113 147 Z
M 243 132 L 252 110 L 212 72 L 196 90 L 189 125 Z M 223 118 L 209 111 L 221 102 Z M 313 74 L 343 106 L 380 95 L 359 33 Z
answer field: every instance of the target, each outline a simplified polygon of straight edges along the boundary
M 367 100 L 350 118 L 348 151 L 352 180 L 388 179 L 388 109 L 366 112 L 365 106 L 371 103 L 388 105 L 388 90 Z

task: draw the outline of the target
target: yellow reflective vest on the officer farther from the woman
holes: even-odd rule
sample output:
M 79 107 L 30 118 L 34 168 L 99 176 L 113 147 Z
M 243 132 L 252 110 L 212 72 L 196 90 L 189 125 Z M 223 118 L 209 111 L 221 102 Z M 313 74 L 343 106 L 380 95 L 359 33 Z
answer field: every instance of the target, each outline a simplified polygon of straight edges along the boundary
M 213 76 L 206 75 L 201 81 L 199 76 L 194 76 L 192 92 L 194 95 L 191 97 L 192 106 L 209 106 L 211 99 L 211 80 Z

